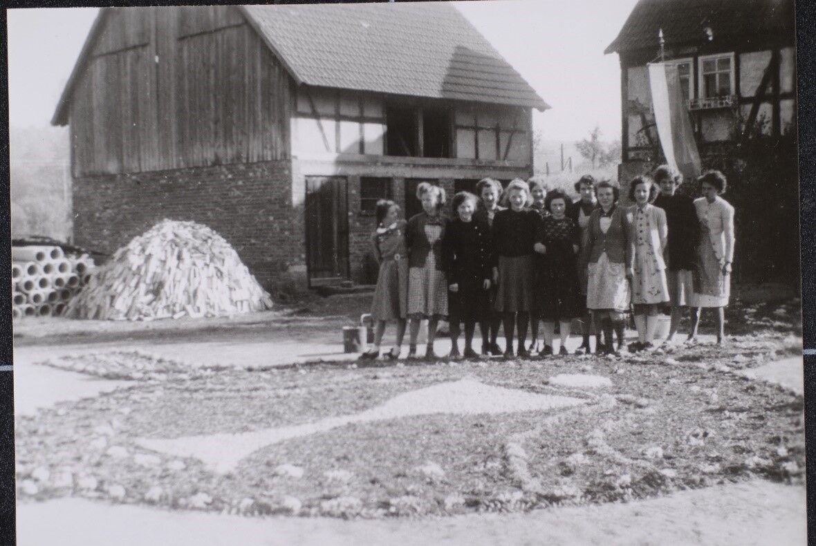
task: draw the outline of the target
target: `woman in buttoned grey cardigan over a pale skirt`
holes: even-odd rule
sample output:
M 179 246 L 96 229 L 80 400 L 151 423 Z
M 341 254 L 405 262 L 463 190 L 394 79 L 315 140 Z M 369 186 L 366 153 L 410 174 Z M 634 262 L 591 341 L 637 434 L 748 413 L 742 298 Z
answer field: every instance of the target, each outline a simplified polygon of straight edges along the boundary
M 618 206 L 619 189 L 606 180 L 596 186 L 600 206 L 592 211 L 583 233 L 582 264 L 587 267 L 587 307 L 596 328 L 604 332 L 602 353 L 619 353 L 612 332 L 623 328 L 631 304 L 635 247 L 632 214 Z

